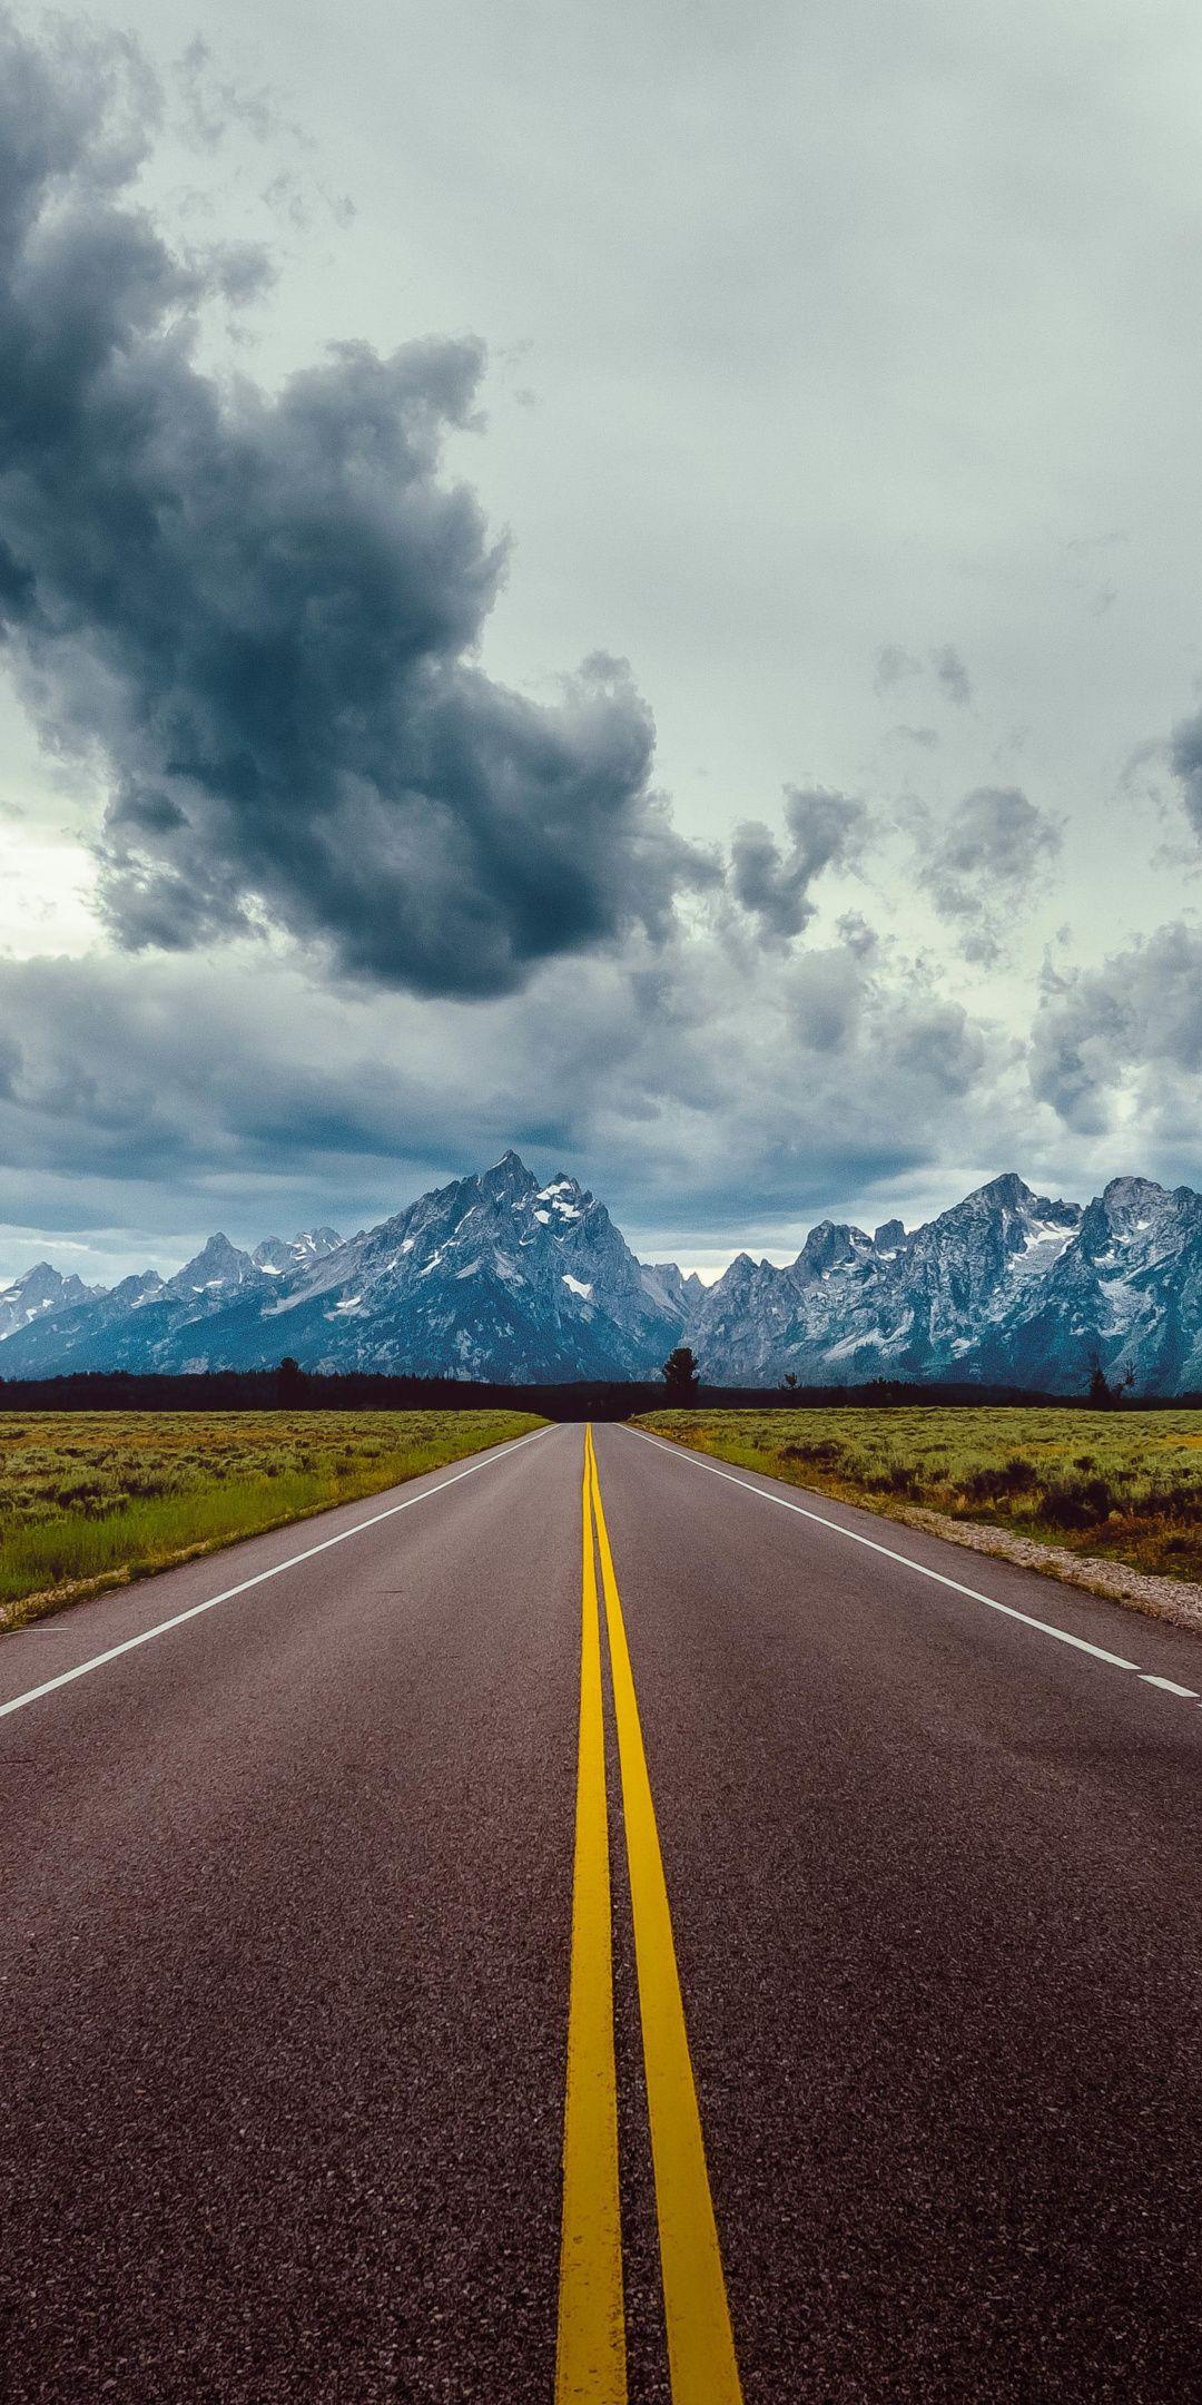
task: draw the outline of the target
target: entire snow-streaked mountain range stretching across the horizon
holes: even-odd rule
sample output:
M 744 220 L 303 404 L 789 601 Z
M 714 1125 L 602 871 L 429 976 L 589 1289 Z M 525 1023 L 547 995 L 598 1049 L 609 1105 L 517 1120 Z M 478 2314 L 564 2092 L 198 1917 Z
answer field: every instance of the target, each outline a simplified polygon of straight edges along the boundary
M 923 1227 L 822 1219 L 793 1263 L 704 1287 L 639 1263 L 572 1176 L 517 1152 L 341 1239 L 252 1253 L 226 1236 L 173 1277 L 87 1287 L 38 1263 L 0 1287 L 0 1378 L 70 1371 L 413 1371 L 493 1380 L 644 1378 L 673 1344 L 726 1385 L 957 1378 L 1079 1392 L 1089 1356 L 1171 1395 L 1202 1388 L 1202 1195 L 1113 1178 L 1089 1205 L 1014 1174 Z

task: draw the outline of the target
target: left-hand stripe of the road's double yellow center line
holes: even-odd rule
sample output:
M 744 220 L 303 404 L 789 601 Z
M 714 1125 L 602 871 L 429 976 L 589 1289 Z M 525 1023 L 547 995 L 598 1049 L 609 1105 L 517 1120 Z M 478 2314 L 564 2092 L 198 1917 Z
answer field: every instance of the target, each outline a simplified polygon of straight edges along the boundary
M 613 1936 L 608 1886 L 601 1614 L 584 1438 L 584 1570 L 579 1643 L 577 1849 L 572 1989 L 563 2126 L 560 2328 L 555 2405 L 625 2405 L 618 2076 L 613 2068 Z

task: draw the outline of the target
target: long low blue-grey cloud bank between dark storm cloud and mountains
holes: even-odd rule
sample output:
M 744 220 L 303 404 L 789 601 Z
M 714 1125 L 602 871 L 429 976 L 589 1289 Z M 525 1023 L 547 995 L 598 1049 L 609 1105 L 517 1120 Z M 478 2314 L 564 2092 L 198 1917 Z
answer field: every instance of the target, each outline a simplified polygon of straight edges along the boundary
M 1002 1121 L 998 1049 L 954 998 L 858 943 L 736 955 L 721 928 L 471 1005 L 322 986 L 255 945 L 221 976 L 195 955 L 0 960 L 0 1025 L 22 1029 L 0 1222 L 75 1234 L 361 1227 L 514 1142 L 630 1224 L 733 1251 L 873 1183 L 894 1200 L 947 1147 L 990 1157 Z

